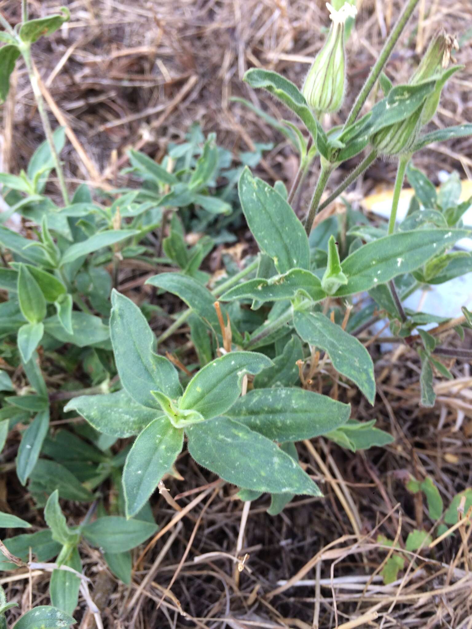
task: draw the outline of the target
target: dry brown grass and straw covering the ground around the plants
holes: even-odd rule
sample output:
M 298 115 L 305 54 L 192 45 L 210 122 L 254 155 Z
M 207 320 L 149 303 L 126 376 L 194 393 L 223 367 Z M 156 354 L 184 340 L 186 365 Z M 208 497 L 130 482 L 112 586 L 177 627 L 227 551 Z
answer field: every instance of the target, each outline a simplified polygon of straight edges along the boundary
M 30 4 L 37 14 L 59 6 L 50 0 Z M 250 91 L 240 79 L 245 69 L 261 65 L 300 84 L 320 47 L 318 35 L 327 25 L 321 3 L 76 0 L 67 4 L 72 21 L 51 40 L 38 44 L 35 58 L 54 116 L 67 124 L 75 143 L 75 149 L 69 143 L 63 153 L 71 189 L 83 179 L 113 184 L 130 145 L 159 160 L 167 143 L 183 138 L 195 120 L 206 132 L 216 131 L 218 142 L 235 155 L 253 141 L 274 142 L 261 165 L 262 176 L 288 183 L 293 179 L 296 158 L 286 143 L 230 103 L 230 97 L 248 97 L 281 115 L 273 101 Z M 350 93 L 368 74 L 401 3 L 364 0 L 359 4 L 357 30 L 349 42 Z M 447 26 L 452 33 L 462 33 L 471 26 L 470 0 L 420 3 L 425 5 L 432 6 L 430 17 L 423 16 L 418 29 L 416 19 L 410 23 L 403 47 L 388 65 L 394 81 L 407 79 L 435 28 Z M 17 0 L 0 3 L 0 9 L 12 23 L 18 20 Z M 466 64 L 466 70 L 447 86 L 432 128 L 472 120 L 470 43 L 458 53 L 458 61 Z M 18 172 L 43 136 L 21 66 L 14 84 L 3 112 L 2 169 Z M 347 99 L 333 123 L 342 120 L 349 104 Z M 462 169 L 462 175 L 469 175 L 472 141 L 456 140 L 425 150 L 415 163 L 433 179 L 442 168 Z M 393 164 L 380 162 L 356 191 L 365 193 L 379 181 L 390 183 L 394 169 Z M 124 274 L 121 281 L 132 282 L 129 277 Z M 442 336 L 455 342 L 451 330 Z M 301 461 L 320 483 L 325 498 L 295 499 L 276 518 L 265 513 L 267 498 L 243 510 L 232 487 L 215 482 L 184 452 L 177 469 L 185 481 L 168 479 L 169 494 L 155 496 L 154 514 L 161 529 L 145 552 L 135 551 L 131 587 L 111 576 L 96 550 L 82 548 L 103 626 L 472 626 L 469 521 L 464 520 L 455 537 L 421 550 L 419 556 L 404 550 L 408 532 L 431 527 L 425 505 L 405 487 L 410 474 L 417 479 L 431 476 L 445 504 L 471 484 L 469 365 L 451 362 L 458 380 L 437 385 L 437 405 L 431 410 L 419 406 L 419 364 L 412 350 L 399 345 L 380 355 L 374 345 L 373 355 L 379 390 L 374 408 L 354 389 L 338 392 L 335 387 L 331 394 L 349 399 L 353 416 L 376 418 L 379 428 L 395 436 L 395 443 L 356 455 L 322 439 L 299 444 Z M 0 507 L 43 526 L 14 474 L 17 445 L 15 439 L 9 440 L 3 454 Z M 68 507 L 70 523 L 78 523 L 86 508 Z M 401 578 L 389 586 L 383 585 L 379 569 L 391 549 L 377 542 L 378 533 L 397 538 L 406 559 Z M 243 560 L 240 572 L 238 564 Z M 0 581 L 8 599 L 20 603 L 18 611 L 11 611 L 12 617 L 26 611 L 31 600 L 48 603 L 47 572 L 17 572 L 4 574 Z M 84 598 L 76 618 L 82 629 L 94 626 L 90 603 Z

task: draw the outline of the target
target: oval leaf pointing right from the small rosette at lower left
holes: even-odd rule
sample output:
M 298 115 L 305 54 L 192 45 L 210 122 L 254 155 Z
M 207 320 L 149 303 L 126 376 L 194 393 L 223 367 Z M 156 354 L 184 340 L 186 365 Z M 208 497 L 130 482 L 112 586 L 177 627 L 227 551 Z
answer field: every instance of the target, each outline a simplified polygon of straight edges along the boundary
M 154 523 L 111 515 L 86 524 L 82 533 L 87 542 L 103 552 L 125 552 L 145 542 L 157 528 Z

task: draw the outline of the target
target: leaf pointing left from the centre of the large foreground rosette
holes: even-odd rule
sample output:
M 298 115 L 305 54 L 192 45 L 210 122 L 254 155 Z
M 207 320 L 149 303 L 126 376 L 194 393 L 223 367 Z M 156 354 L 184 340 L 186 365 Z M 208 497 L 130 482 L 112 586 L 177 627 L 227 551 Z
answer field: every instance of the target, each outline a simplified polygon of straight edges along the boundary
M 135 402 L 125 389 L 106 395 L 73 398 L 64 411 L 77 411 L 96 430 L 115 437 L 137 435 L 159 415 L 157 409 Z

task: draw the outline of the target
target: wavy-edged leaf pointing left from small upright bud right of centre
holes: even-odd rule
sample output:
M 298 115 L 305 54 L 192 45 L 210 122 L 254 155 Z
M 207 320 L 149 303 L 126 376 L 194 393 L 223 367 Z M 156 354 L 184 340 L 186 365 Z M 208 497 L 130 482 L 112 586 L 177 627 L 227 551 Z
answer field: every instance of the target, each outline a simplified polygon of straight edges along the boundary
M 291 269 L 283 275 L 265 279 L 257 277 L 230 288 L 220 297 L 221 301 L 234 299 L 257 299 L 260 301 L 281 301 L 304 295 L 313 301 L 322 301 L 327 294 L 323 291 L 320 279 L 311 271 Z

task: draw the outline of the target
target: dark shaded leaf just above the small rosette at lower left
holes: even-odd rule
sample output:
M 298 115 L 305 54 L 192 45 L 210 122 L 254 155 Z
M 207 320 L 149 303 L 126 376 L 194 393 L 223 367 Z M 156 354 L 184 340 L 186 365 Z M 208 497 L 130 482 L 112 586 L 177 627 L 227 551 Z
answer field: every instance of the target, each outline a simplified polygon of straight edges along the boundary
M 52 494 L 57 489 L 59 497 L 67 500 L 87 503 L 94 499 L 93 493 L 82 486 L 72 472 L 55 461 L 38 459 L 30 477 L 31 482 L 42 487 L 43 493 Z

